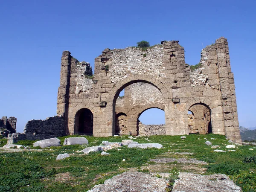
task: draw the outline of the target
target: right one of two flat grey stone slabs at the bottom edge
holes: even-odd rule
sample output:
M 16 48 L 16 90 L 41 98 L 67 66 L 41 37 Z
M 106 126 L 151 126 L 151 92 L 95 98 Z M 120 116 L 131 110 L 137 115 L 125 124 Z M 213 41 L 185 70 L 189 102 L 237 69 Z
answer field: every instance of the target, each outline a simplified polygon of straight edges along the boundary
M 224 174 L 198 175 L 180 173 L 172 192 L 241 192 L 241 188 Z

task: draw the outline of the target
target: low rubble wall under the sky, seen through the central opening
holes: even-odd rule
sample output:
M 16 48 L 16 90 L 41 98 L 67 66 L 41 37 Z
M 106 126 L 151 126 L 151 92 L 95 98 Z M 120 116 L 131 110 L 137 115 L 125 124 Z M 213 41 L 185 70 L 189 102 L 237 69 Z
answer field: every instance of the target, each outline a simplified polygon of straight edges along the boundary
M 166 126 L 161 125 L 144 125 L 142 122 L 139 122 L 139 135 L 140 136 L 150 136 L 150 135 L 165 135 Z

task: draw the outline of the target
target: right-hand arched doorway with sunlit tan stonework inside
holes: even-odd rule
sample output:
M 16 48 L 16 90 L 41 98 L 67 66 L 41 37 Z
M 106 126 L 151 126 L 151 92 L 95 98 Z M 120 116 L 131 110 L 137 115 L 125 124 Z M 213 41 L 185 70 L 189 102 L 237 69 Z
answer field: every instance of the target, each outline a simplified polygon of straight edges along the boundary
M 203 103 L 196 103 L 188 112 L 189 134 L 212 133 L 211 109 Z

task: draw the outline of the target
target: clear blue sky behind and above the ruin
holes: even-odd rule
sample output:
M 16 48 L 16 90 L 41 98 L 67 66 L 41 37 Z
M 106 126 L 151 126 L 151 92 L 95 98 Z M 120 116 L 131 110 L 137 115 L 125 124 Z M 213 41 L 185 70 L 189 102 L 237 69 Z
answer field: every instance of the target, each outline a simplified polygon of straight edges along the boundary
M 235 76 L 239 122 L 254 127 L 255 20 L 255 0 L 2 0 L 0 116 L 17 117 L 17 131 L 22 132 L 28 120 L 56 114 L 64 50 L 93 66 L 106 47 L 179 40 L 186 63 L 197 64 L 202 44 L 224 36 Z

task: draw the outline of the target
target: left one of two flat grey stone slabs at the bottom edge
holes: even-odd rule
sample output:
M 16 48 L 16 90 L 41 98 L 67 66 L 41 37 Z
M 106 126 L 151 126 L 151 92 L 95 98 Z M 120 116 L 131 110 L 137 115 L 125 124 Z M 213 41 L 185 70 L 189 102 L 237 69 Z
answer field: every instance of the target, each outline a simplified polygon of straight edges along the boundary
M 88 192 L 166 192 L 166 180 L 142 172 L 125 172 Z

